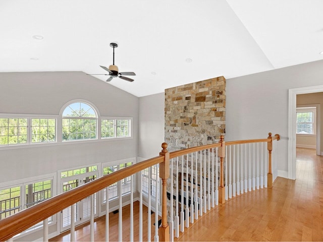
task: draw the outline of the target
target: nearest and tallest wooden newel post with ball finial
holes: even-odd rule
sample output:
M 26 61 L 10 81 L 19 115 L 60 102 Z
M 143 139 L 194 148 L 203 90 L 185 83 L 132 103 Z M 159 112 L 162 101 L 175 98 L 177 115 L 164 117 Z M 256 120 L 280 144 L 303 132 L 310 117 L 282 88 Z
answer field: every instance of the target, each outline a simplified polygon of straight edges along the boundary
M 161 226 L 159 227 L 159 240 L 170 241 L 170 227 L 167 222 L 167 179 L 170 177 L 170 153 L 167 150 L 167 143 L 161 144 L 159 155 L 165 156 L 164 162 L 159 164 L 159 177 L 163 185 L 163 200 L 161 200 Z

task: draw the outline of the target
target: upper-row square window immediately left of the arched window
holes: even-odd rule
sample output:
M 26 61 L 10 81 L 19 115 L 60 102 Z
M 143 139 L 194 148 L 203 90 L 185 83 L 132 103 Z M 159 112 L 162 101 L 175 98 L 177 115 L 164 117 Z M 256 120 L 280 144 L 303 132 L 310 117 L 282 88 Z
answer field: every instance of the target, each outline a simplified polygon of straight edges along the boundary
M 44 143 L 56 141 L 55 118 L 31 119 L 31 143 Z

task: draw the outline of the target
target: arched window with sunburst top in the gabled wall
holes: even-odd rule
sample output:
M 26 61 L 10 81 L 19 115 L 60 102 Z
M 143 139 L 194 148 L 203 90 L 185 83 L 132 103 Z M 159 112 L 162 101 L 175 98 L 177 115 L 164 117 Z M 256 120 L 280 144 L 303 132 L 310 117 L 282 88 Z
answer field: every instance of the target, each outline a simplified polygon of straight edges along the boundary
M 62 141 L 96 139 L 97 114 L 84 102 L 68 105 L 62 115 Z

